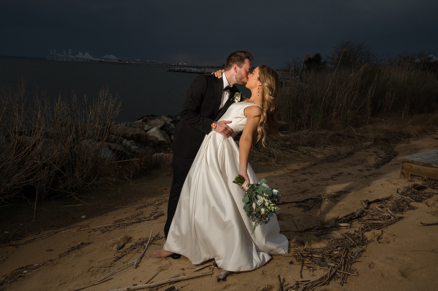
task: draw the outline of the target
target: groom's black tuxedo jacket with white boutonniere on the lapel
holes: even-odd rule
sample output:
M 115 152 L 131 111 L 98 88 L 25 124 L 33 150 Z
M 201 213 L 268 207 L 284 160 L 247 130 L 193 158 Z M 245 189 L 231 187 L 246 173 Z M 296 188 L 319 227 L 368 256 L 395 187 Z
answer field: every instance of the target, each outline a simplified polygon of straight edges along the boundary
M 223 78 L 212 74 L 196 77 L 188 89 L 180 112 L 180 121 L 173 133 L 172 151 L 183 158 L 194 158 L 213 121 L 217 121 L 233 104 L 231 96 L 219 111 L 222 102 Z M 237 90 L 238 92 L 238 90 Z M 243 99 L 243 98 L 242 98 Z

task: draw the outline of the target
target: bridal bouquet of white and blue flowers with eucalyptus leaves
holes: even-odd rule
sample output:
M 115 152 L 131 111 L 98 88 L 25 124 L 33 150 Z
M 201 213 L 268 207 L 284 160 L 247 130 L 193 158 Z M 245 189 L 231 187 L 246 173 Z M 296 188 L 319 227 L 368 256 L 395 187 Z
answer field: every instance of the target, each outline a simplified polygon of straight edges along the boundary
M 246 182 L 244 177 L 237 175 L 236 178 L 234 178 L 233 183 L 242 186 Z M 276 207 L 281 198 L 279 192 L 280 189 L 277 190 L 270 188 L 266 184 L 265 179 L 261 179 L 257 184 L 250 184 L 246 190 L 242 201 L 245 203 L 244 210 L 247 213 L 247 216 L 251 218 L 252 222 L 254 222 L 254 228 L 251 235 L 254 233 L 255 228 L 258 225 L 261 225 L 262 223 L 267 224 L 271 220 L 271 217 L 274 217 L 275 211 L 280 210 L 280 208 Z

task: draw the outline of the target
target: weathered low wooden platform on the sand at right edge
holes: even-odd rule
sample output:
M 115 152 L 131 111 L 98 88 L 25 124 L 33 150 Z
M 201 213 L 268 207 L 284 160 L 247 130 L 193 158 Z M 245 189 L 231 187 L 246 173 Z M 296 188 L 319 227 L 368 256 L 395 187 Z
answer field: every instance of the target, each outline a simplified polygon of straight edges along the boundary
M 438 180 L 438 149 L 399 157 L 402 161 L 400 177 L 410 179 L 410 175 Z

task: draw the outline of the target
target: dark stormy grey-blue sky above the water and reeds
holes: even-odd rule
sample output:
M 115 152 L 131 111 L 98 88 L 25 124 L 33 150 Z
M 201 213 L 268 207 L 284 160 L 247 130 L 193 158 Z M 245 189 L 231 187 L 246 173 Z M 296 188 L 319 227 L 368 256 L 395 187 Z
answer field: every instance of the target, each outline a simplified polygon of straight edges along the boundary
M 438 51 L 437 0 L 2 1 L 0 55 L 93 56 L 214 64 L 234 50 L 254 64 L 366 42 L 379 55 Z

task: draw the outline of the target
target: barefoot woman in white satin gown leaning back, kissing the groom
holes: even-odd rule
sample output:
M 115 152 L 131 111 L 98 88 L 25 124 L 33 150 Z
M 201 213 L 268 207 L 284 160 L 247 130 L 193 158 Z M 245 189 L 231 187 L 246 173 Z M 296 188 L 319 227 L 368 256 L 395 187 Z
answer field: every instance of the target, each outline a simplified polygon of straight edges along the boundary
M 257 269 L 271 259 L 270 254 L 286 254 L 288 248 L 276 217 L 251 235 L 254 224 L 243 209 L 244 193 L 233 183 L 237 174 L 247 185 L 259 182 L 248 164 L 254 133 L 262 143 L 265 127 L 278 136 L 277 73 L 260 65 L 248 76 L 246 87 L 251 98 L 236 101 L 219 119 L 232 121 L 228 125 L 233 136 L 243 131 L 239 147 L 214 130 L 205 136 L 181 190 L 166 243 L 154 253 L 157 257 L 178 253 L 194 265 L 215 259 L 223 269 L 219 279 L 233 271 Z

